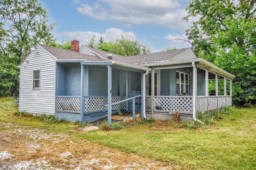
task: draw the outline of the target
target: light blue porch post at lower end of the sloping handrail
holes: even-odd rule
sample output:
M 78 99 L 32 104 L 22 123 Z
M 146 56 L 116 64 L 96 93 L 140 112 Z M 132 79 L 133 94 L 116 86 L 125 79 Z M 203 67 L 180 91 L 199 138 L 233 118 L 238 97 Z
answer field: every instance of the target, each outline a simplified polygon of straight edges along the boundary
M 111 118 L 112 118 L 111 99 L 112 99 L 112 67 L 108 65 L 108 125 L 111 124 Z

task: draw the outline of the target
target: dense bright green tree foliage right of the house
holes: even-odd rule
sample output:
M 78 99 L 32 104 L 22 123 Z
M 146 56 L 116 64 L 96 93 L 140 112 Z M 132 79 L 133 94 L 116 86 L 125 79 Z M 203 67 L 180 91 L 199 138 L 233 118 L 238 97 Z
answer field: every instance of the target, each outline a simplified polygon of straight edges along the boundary
M 256 104 L 256 0 L 190 0 L 186 30 L 196 54 L 234 74 L 234 104 Z

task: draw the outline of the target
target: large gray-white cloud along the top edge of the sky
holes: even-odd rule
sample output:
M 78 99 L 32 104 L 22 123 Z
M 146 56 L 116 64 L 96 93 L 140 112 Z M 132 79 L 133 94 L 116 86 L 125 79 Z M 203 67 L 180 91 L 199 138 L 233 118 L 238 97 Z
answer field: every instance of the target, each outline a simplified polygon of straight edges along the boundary
M 176 29 L 187 15 L 178 0 L 98 0 L 94 4 L 80 1 L 79 13 L 97 20 L 116 20 L 121 25 L 153 24 Z

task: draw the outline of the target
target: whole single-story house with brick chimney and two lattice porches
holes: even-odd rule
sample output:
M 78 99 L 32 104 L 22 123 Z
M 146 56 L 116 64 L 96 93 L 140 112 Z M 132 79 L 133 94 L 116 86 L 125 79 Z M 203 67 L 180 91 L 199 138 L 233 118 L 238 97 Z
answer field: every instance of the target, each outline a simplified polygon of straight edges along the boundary
M 198 111 L 232 105 L 234 77 L 192 48 L 126 57 L 80 47 L 77 40 L 72 51 L 36 44 L 20 64 L 19 110 L 80 122 L 108 116 L 109 124 L 117 110 L 139 111 L 142 118 L 179 111 L 197 120 Z M 209 82 L 215 82 L 214 96 Z

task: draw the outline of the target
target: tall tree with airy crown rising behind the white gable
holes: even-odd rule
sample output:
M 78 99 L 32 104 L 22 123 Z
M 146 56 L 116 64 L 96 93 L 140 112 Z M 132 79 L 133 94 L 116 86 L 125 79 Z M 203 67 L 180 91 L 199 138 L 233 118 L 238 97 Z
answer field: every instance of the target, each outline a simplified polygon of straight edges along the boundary
M 0 16 L 5 27 L 11 30 L 6 42 L 8 52 L 20 61 L 36 42 L 54 41 L 51 31 L 56 23 L 48 24 L 47 10 L 37 0 L 1 0 Z

